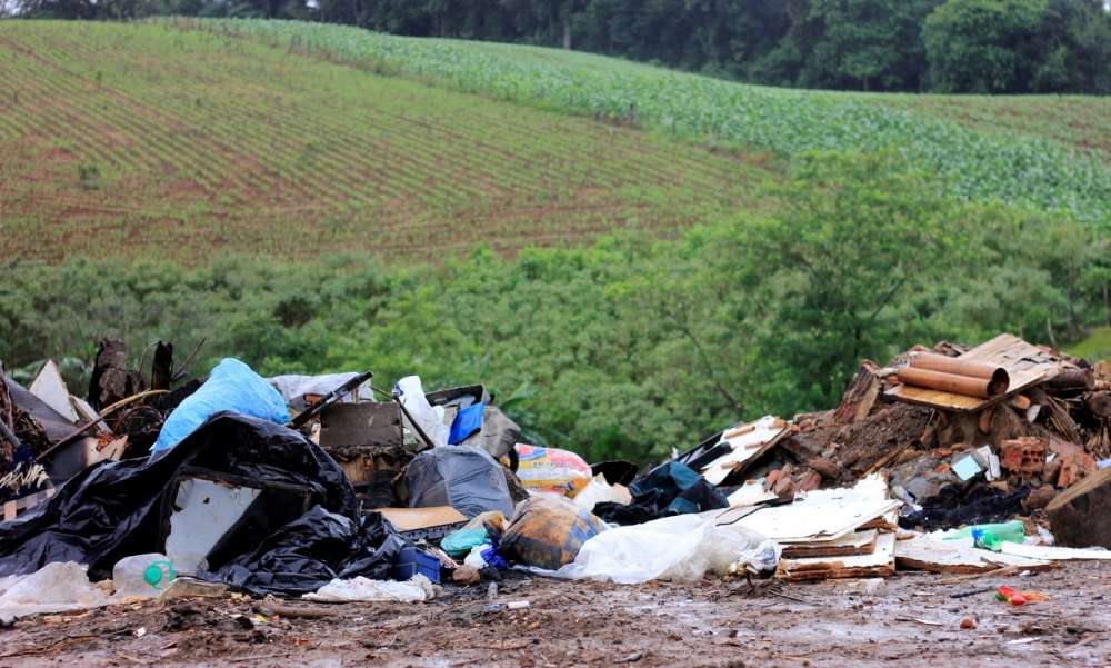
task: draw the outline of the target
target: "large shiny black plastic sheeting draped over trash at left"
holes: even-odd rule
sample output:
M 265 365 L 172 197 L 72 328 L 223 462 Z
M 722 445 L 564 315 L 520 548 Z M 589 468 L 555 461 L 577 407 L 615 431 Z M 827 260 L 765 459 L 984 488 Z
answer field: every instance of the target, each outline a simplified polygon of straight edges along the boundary
M 220 572 L 232 565 L 258 570 L 251 578 L 242 570 L 232 577 L 228 570 L 222 579 L 250 582 L 248 588 L 257 592 L 301 594 L 327 584 L 337 568 L 352 577 L 373 577 L 389 568 L 390 546 L 397 542 L 389 538 L 396 532 L 384 520 L 363 526 L 354 491 L 339 465 L 297 431 L 222 412 L 159 458 L 90 467 L 41 510 L 0 524 L 0 577 L 34 572 L 52 561 L 77 561 L 89 566 L 91 578 L 100 579 L 111 577 L 112 566 L 122 557 L 160 551 L 162 496 L 184 466 L 310 490 L 312 509 L 266 537 L 262 546 L 259 536 L 224 546 L 240 556 Z M 296 561 L 299 556 L 303 562 Z M 384 562 L 376 561 L 376 556 Z

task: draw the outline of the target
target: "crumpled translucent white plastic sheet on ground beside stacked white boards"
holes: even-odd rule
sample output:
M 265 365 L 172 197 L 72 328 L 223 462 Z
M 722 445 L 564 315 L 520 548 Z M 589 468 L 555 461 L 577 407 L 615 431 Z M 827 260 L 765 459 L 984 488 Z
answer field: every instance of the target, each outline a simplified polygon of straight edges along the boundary
M 583 544 L 573 562 L 544 572 L 621 585 L 694 581 L 707 572 L 725 575 L 734 566 L 774 570 L 780 552 L 779 545 L 751 529 L 680 515 L 603 531 Z

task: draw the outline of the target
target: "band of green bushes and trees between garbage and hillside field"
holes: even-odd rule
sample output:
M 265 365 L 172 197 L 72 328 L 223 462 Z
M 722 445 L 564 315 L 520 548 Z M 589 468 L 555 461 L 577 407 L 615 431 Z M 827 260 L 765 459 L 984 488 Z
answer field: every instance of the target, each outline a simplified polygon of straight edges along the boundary
M 88 359 L 97 337 L 234 355 L 263 373 L 367 368 L 486 381 L 530 439 L 642 460 L 741 417 L 829 407 L 862 357 L 1008 330 L 1064 342 L 1102 320 L 1108 239 L 945 197 L 894 154 L 808 154 L 792 205 L 672 241 L 489 250 L 440 267 L 214 258 L 183 269 L 9 263 L 0 359 Z M 179 352 L 183 356 L 184 352 Z

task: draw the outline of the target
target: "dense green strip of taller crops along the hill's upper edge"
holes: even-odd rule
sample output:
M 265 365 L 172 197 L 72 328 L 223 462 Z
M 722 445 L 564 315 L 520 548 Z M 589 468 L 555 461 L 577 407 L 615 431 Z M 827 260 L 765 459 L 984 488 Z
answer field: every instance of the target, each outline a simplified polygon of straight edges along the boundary
M 809 150 L 894 150 L 935 173 L 957 197 L 1063 209 L 1111 228 L 1111 170 L 1094 153 L 1041 138 L 984 133 L 850 94 L 745 86 L 582 53 L 402 38 L 342 26 L 172 21 L 254 36 L 468 92 L 788 158 Z

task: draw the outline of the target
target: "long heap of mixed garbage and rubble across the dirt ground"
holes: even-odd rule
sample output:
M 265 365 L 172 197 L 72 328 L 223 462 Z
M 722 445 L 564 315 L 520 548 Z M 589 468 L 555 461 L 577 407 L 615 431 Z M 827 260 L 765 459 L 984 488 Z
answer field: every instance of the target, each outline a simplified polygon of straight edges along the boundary
M 422 601 L 509 569 L 793 581 L 1111 558 L 1080 549 L 1111 547 L 1111 372 L 1010 335 L 865 361 L 832 410 L 644 468 L 519 442 L 482 385 L 233 359 L 201 382 L 194 353 L 176 368 L 159 342 L 144 373 L 106 339 L 88 400 L 52 362 L 28 389 L 3 376 L 0 619 L 228 590 Z

